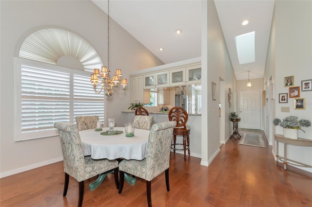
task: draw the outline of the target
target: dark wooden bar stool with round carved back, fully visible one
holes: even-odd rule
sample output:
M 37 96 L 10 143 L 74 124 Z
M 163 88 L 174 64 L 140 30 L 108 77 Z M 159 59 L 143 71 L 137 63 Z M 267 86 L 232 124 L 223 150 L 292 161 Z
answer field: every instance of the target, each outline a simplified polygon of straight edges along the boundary
M 168 114 L 169 121 L 176 121 L 176 126 L 174 127 L 174 143 L 171 145 L 171 149 L 174 150 L 184 150 L 184 160 L 186 160 L 186 150 L 188 150 L 188 154 L 190 155 L 190 134 L 191 127 L 186 125 L 188 120 L 188 114 L 181 107 L 173 107 Z M 183 136 L 183 143 L 176 143 L 176 136 Z M 183 149 L 176 148 L 176 145 L 183 145 Z

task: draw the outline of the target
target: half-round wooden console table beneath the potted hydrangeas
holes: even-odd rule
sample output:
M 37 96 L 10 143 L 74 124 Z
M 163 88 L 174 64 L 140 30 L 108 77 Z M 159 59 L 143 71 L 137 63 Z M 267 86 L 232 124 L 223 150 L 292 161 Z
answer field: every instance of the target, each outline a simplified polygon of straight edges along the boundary
M 305 138 L 298 138 L 298 139 L 292 139 L 292 138 L 284 138 L 283 135 L 278 135 L 275 134 L 274 135 L 274 139 L 276 140 L 276 162 L 278 162 L 278 160 L 281 160 L 284 164 L 284 170 L 287 170 L 287 145 L 297 145 L 297 146 L 304 146 L 304 147 L 312 147 L 312 140 L 311 139 L 305 139 Z M 278 155 L 278 142 L 282 142 L 284 143 L 284 157 L 281 157 Z M 310 165 L 306 165 L 297 161 L 293 161 L 291 159 L 288 159 L 289 161 L 292 161 L 293 165 L 296 166 L 300 166 L 300 167 L 308 167 L 308 168 L 312 168 L 312 166 Z

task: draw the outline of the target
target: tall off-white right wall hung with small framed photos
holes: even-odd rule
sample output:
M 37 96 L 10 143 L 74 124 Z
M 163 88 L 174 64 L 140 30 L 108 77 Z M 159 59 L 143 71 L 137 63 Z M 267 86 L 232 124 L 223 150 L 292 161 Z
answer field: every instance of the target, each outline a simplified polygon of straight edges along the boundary
M 287 104 L 279 104 L 277 98 L 279 93 L 288 93 L 289 88 L 284 87 L 284 77 L 294 75 L 293 86 L 300 86 L 300 89 L 302 80 L 312 79 L 312 1 L 275 1 L 274 10 L 266 65 L 266 80 L 272 76 L 275 82 L 275 100 L 270 103 L 275 115 L 272 119 L 292 115 L 312 121 L 312 91 L 300 91 L 300 98 L 306 99 L 305 110 L 294 109 L 293 98 Z M 281 107 L 289 107 L 290 112 L 281 112 Z M 298 137 L 312 140 L 312 127 L 303 129 L 306 133 L 298 130 Z M 283 134 L 282 127 L 273 126 L 270 137 L 275 133 Z M 283 145 L 279 149 L 279 155 L 283 155 Z M 312 165 L 311 147 L 288 145 L 287 154 L 289 159 Z M 302 169 L 312 172 L 311 168 Z

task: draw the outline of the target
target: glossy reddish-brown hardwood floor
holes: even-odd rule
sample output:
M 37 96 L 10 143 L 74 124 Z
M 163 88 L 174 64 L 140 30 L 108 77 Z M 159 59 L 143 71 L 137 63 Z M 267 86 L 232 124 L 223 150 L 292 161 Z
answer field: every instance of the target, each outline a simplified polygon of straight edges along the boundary
M 242 135 L 244 132 L 239 131 Z M 250 133 L 250 132 L 248 132 Z M 229 139 L 209 167 L 200 158 L 172 154 L 170 191 L 164 173 L 152 180 L 154 207 L 312 207 L 312 173 L 275 163 L 272 146 L 239 145 Z M 191 146 L 192 147 L 192 146 Z M 192 148 L 191 148 L 192 151 Z M 125 183 L 118 194 L 113 174 L 94 191 L 85 181 L 83 207 L 146 207 L 145 181 Z M 63 163 L 0 179 L 1 207 L 76 207 L 78 182 L 70 178 L 63 197 Z

